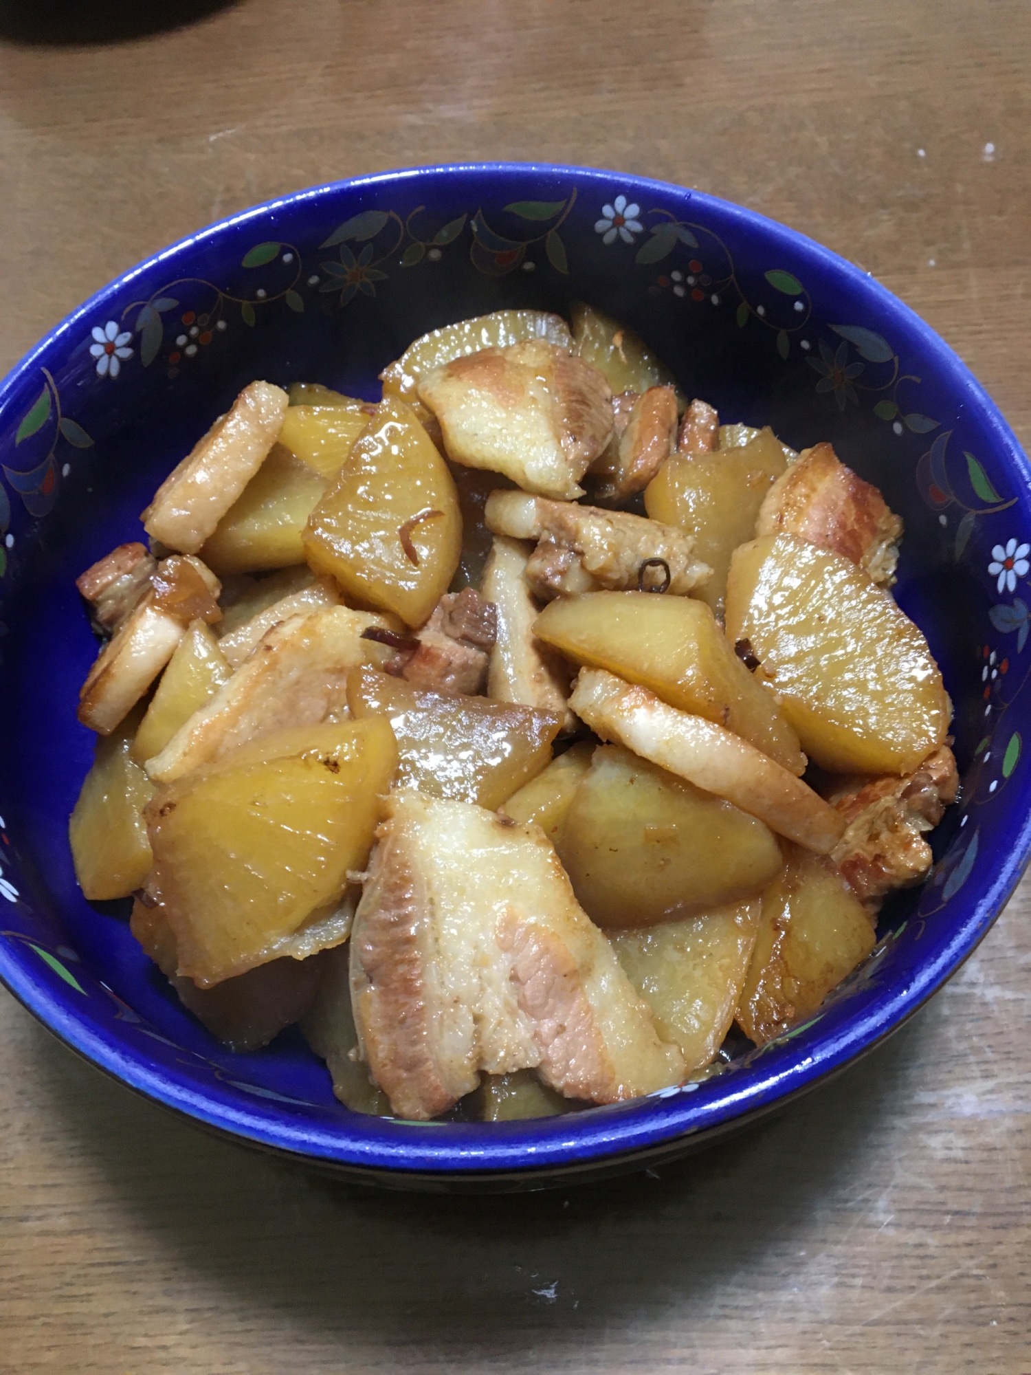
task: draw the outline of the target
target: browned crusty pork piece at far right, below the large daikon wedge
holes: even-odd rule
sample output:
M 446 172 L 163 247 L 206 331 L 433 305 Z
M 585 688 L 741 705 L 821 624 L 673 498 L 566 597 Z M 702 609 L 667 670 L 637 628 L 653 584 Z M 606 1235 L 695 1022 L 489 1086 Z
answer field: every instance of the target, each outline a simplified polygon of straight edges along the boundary
M 933 855 L 924 836 L 955 802 L 958 789 L 949 745 L 940 745 L 905 778 L 834 780 L 826 796 L 847 829 L 830 858 L 872 914 L 895 888 L 909 888 L 928 873 Z

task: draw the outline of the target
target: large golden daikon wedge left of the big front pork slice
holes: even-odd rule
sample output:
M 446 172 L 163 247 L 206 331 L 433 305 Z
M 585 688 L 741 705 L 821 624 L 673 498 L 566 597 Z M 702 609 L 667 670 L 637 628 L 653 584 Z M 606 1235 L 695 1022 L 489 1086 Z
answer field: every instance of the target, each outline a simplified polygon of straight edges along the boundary
M 264 964 L 368 858 L 397 745 L 384 720 L 293 727 L 164 788 L 150 887 L 179 972 L 209 987 Z

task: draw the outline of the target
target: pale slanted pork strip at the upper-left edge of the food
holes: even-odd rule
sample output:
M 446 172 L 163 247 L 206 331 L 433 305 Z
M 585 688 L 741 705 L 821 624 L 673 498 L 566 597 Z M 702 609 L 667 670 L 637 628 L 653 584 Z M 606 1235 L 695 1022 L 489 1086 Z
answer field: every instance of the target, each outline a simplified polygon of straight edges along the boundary
M 289 397 L 269 382 L 252 382 L 225 415 L 194 444 L 154 494 L 140 520 L 169 549 L 195 554 L 275 444 Z

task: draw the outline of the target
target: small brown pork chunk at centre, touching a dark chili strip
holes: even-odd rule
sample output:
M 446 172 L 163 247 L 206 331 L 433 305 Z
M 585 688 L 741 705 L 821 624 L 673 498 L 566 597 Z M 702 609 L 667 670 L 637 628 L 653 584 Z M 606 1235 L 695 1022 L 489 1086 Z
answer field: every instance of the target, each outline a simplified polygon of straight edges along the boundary
M 401 649 L 385 668 L 428 692 L 477 696 L 487 682 L 496 635 L 498 609 L 492 602 L 473 587 L 445 593 L 414 648 Z

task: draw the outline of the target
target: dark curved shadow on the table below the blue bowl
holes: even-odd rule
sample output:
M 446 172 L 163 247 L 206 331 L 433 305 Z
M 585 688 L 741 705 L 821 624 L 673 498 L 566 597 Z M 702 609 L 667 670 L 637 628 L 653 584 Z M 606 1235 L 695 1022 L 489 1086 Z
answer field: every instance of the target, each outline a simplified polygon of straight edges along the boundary
M 583 1343 L 674 1308 L 678 1323 L 701 1320 L 742 1275 L 789 1265 L 797 1235 L 878 1155 L 933 1035 L 922 1013 L 808 1097 L 661 1170 L 520 1196 L 338 1182 L 159 1112 L 41 1027 L 33 1046 L 52 1112 L 126 1225 L 201 1275 L 213 1302 L 272 1313 L 298 1358 L 346 1339 L 480 1370 L 529 1358 L 528 1330 Z

